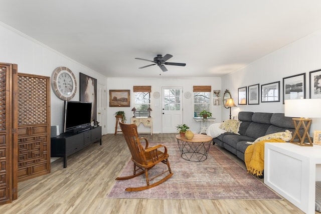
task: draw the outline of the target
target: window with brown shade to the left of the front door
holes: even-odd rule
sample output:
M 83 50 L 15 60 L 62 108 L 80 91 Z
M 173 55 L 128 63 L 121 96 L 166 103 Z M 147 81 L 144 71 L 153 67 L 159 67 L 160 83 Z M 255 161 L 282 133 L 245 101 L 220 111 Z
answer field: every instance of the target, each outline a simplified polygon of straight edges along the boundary
M 136 117 L 149 116 L 148 108 L 150 107 L 151 86 L 134 86 L 133 92 L 135 96 L 134 107 L 136 108 Z

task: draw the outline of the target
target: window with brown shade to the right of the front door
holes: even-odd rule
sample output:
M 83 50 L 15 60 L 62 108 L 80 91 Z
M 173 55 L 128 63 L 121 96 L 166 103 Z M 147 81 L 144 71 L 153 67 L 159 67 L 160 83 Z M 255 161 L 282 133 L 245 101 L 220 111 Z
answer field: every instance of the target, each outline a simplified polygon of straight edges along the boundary
M 200 116 L 200 112 L 203 110 L 211 112 L 211 90 L 211 86 L 193 86 L 194 117 Z

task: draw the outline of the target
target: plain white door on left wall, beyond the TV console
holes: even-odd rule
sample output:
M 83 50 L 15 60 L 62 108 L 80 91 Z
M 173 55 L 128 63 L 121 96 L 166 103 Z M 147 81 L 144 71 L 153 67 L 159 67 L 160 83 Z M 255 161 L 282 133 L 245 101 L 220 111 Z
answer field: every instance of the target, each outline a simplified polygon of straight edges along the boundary
M 105 121 L 105 86 L 97 84 L 97 121 L 99 126 L 101 126 L 101 134 L 106 134 L 106 121 Z

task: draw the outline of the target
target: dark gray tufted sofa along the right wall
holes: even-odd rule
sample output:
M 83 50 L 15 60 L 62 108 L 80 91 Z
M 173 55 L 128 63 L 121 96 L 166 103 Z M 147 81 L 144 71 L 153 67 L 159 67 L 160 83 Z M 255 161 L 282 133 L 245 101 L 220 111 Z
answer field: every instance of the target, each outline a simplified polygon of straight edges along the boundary
M 262 113 L 262 112 L 239 112 L 238 119 L 240 124 L 239 135 L 231 132 L 225 132 L 216 138 L 213 138 L 213 144 L 235 154 L 244 161 L 244 152 L 251 145 L 247 142 L 253 142 L 258 137 L 276 132 L 289 130 L 294 133 L 294 123 L 292 117 L 285 117 L 284 113 Z M 303 130 L 300 130 L 303 133 Z

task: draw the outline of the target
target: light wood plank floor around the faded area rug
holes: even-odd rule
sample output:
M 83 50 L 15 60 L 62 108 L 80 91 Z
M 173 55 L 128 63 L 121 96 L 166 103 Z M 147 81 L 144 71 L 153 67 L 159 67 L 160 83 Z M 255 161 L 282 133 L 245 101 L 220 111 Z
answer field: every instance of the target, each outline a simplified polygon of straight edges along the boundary
M 176 134 L 140 134 L 149 141 L 173 142 Z M 219 146 L 217 146 L 219 147 Z M 223 151 L 225 151 L 223 149 Z M 228 153 L 228 152 L 227 152 Z M 244 163 L 228 153 L 242 167 Z M 110 199 L 106 195 L 130 158 L 122 134 L 52 162 L 51 173 L 18 184 L 18 199 L 0 213 L 303 213 L 287 200 Z M 174 172 L 175 173 L 175 172 Z

